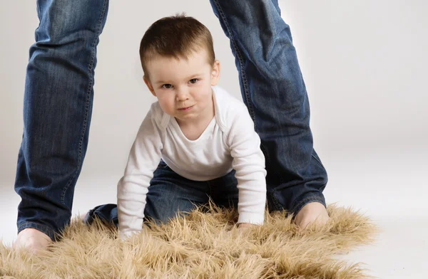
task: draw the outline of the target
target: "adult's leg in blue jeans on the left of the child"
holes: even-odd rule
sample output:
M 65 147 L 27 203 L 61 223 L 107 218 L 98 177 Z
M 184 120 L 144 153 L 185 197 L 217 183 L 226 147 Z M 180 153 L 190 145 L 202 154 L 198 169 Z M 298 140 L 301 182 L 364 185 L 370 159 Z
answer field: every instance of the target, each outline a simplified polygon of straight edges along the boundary
M 70 221 L 86 154 L 96 46 L 108 0 L 39 0 L 37 10 L 40 24 L 30 48 L 16 169 L 17 226 L 19 236 L 31 228 L 54 241 Z M 19 236 L 17 245 L 31 248 Z

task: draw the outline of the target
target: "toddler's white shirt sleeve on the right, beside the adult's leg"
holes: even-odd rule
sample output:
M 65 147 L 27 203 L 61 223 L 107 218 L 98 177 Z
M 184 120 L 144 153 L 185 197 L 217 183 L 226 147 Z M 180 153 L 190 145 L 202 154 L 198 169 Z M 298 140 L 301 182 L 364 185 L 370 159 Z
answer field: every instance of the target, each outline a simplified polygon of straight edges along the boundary
M 266 204 L 265 156 L 247 107 L 234 107 L 228 144 L 238 180 L 238 223 L 263 224 Z

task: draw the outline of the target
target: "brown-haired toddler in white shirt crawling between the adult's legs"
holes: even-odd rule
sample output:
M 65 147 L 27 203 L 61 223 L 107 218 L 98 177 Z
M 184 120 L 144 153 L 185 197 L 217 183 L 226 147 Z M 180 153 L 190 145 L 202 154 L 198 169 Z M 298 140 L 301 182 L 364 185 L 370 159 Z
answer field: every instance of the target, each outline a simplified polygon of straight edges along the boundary
M 118 226 L 121 238 L 145 219 L 167 222 L 213 199 L 238 208 L 239 226 L 263 224 L 266 182 L 260 137 L 242 101 L 218 87 L 213 39 L 187 16 L 160 19 L 140 46 L 144 82 L 158 101 L 143 120 L 118 182 L 117 206 L 86 214 Z

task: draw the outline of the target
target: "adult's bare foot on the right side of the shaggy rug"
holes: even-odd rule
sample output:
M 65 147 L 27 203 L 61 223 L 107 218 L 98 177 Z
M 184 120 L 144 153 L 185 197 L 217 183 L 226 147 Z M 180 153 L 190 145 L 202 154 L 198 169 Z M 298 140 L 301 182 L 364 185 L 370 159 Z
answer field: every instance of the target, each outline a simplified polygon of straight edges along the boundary
M 330 217 L 323 204 L 319 202 L 311 202 L 300 209 L 295 218 L 295 224 L 303 231 L 311 223 L 325 225 Z

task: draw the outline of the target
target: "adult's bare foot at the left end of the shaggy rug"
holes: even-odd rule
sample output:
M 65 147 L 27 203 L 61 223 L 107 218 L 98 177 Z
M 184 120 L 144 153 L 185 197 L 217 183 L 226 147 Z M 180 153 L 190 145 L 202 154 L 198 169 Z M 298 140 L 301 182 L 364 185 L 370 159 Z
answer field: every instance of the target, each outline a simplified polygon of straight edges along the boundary
M 18 237 L 13 244 L 14 249 L 24 248 L 32 253 L 37 253 L 41 249 L 52 243 L 52 240 L 45 233 L 42 233 L 36 228 L 24 228 L 18 233 Z

